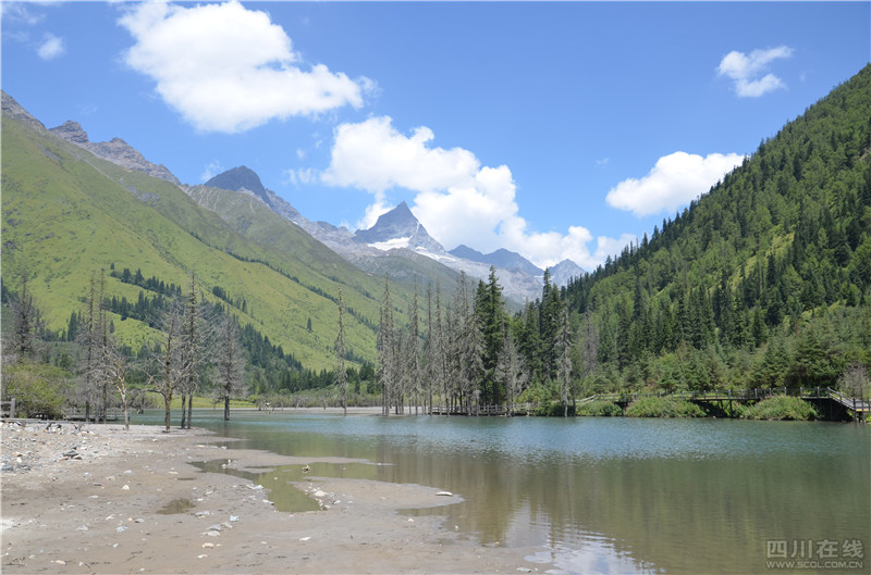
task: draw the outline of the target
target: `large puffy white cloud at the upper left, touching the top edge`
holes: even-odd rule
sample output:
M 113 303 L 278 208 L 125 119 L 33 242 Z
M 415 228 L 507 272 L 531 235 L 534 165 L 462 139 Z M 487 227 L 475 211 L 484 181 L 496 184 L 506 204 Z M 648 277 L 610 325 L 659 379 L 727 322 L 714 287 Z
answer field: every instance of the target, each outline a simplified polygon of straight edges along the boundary
M 359 108 L 373 85 L 322 64 L 304 71 L 284 29 L 235 0 L 193 8 L 144 2 L 119 23 L 136 40 L 127 65 L 154 78 L 158 95 L 203 132 Z

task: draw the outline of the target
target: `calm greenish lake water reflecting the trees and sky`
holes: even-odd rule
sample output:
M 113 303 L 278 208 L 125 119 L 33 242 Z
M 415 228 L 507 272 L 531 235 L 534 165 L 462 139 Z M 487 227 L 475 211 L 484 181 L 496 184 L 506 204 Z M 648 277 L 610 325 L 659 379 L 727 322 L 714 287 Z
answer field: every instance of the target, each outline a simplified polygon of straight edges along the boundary
M 789 553 L 837 541 L 839 557 L 844 540 L 859 539 L 871 554 L 868 426 L 315 410 L 194 421 L 242 438 L 241 448 L 365 460 L 314 464 L 314 476 L 462 495 L 462 503 L 407 513 L 444 516 L 445 528 L 484 545 L 539 548 L 537 559 L 571 573 L 771 573 L 771 540 L 786 540 Z M 220 462 L 206 468 L 221 471 Z M 298 465 L 235 474 L 271 489 L 279 509 L 315 509 L 292 485 L 303 478 Z

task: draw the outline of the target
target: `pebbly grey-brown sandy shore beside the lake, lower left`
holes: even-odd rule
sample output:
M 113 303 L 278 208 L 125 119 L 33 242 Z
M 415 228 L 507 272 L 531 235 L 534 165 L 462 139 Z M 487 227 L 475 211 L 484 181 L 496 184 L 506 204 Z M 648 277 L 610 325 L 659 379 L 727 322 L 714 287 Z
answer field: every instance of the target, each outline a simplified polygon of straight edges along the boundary
M 528 573 L 537 549 L 480 546 L 439 517 L 438 486 L 310 477 L 329 509 L 283 513 L 250 482 L 188 464 L 321 460 L 225 449 L 205 430 L 5 423 L 3 573 Z M 326 460 L 324 460 L 326 461 Z M 462 497 L 462 493 L 457 493 Z M 160 511 L 164 513 L 160 513 Z M 170 513 L 165 513 L 170 512 Z

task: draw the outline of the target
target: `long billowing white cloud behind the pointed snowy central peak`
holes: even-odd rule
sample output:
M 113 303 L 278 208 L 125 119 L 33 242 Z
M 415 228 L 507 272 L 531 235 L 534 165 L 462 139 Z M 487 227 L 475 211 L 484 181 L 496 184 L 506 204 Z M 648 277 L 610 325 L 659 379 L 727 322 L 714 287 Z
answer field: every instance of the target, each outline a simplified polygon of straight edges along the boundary
M 357 227 L 371 227 L 392 208 L 387 192 L 401 188 L 415 193 L 412 211 L 447 249 L 459 243 L 484 252 L 504 247 L 539 266 L 568 258 L 593 268 L 615 243 L 623 241 L 622 248 L 628 242 L 625 237 L 601 237 L 590 252 L 587 245 L 593 237 L 584 227 L 569 227 L 565 235 L 531 232 L 519 215 L 511 170 L 481 166 L 463 148 L 432 147 L 433 133 L 428 127 L 417 127 L 406 136 L 390 117 L 381 116 L 342 124 L 334 137 L 331 163 L 321 173 L 321 182 L 372 193 L 373 202 Z

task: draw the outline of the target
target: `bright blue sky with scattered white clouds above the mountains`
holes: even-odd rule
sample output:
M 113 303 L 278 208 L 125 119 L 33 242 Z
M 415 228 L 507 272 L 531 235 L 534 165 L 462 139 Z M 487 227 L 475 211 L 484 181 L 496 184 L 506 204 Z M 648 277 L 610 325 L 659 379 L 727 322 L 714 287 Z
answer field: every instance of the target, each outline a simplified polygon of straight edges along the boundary
M 592 268 L 869 62 L 869 2 L 3 2 L 3 90 L 310 220 Z

